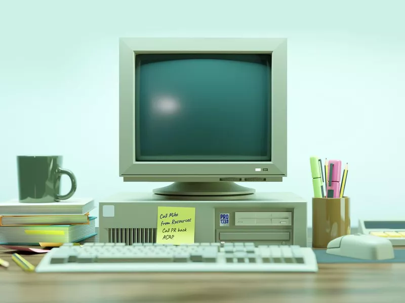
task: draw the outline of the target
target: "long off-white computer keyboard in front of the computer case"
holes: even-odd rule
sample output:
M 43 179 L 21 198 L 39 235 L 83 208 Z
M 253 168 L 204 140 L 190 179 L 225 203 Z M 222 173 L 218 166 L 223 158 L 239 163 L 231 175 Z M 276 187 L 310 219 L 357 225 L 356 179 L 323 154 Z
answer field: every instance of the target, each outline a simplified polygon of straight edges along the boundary
M 67 272 L 317 272 L 312 248 L 254 243 L 65 243 L 35 268 Z

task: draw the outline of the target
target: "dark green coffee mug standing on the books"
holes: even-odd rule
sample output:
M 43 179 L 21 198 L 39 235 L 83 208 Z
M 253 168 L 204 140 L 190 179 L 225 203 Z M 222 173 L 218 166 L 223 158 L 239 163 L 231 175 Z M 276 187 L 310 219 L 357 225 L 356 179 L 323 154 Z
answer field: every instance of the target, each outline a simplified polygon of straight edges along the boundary
M 22 203 L 52 203 L 66 200 L 76 191 L 74 174 L 61 168 L 62 156 L 17 156 L 19 200 Z M 71 188 L 60 194 L 60 178 L 70 178 Z

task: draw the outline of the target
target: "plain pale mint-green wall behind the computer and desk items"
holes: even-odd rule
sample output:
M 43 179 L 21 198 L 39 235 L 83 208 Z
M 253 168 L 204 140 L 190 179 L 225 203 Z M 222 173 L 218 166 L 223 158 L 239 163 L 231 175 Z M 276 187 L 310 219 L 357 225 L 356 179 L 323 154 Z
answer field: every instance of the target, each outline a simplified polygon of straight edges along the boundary
M 315 154 L 349 162 L 354 225 L 405 211 L 405 2 L 104 3 L 0 1 L 0 200 L 22 154 L 64 155 L 80 196 L 162 185 L 118 177 L 118 37 L 275 36 L 289 38 L 289 177 L 249 185 L 310 199 Z

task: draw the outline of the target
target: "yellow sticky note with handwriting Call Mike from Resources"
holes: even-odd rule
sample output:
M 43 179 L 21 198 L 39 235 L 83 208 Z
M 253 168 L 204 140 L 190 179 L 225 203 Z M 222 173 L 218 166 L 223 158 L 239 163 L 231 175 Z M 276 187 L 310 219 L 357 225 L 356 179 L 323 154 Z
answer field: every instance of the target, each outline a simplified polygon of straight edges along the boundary
M 195 208 L 163 207 L 157 208 L 156 243 L 190 244 L 194 243 Z

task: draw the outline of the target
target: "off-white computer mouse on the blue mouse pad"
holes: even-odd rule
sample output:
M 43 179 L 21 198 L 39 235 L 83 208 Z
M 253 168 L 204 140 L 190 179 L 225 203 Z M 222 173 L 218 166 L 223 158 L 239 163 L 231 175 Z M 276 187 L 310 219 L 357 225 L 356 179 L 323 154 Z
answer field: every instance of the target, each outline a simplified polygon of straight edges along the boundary
M 327 254 L 363 260 L 394 259 L 390 240 L 372 235 L 346 235 L 328 243 Z

